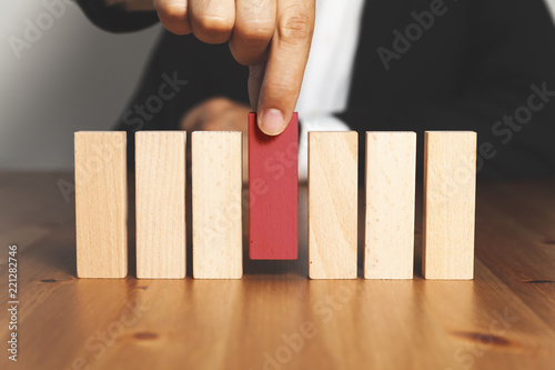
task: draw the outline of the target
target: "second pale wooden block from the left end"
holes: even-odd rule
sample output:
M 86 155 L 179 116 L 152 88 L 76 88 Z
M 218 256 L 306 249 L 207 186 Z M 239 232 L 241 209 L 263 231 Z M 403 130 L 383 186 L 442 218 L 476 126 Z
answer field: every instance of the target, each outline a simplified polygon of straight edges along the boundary
M 185 277 L 184 131 L 135 132 L 137 277 Z

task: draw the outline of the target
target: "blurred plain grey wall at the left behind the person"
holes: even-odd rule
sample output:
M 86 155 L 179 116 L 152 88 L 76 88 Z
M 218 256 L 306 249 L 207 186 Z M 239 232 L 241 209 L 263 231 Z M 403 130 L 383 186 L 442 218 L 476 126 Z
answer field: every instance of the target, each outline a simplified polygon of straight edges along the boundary
M 50 24 L 43 1 L 0 2 L 0 169 L 70 169 L 73 132 L 114 123 L 161 32 L 103 32 L 69 0 Z M 36 41 L 19 42 L 37 22 Z

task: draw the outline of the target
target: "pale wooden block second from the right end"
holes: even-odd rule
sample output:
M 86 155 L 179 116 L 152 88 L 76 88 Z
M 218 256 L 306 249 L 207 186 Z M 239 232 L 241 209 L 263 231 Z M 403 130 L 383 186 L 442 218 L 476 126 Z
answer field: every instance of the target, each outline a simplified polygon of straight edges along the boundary
M 412 279 L 415 132 L 366 132 L 365 279 Z

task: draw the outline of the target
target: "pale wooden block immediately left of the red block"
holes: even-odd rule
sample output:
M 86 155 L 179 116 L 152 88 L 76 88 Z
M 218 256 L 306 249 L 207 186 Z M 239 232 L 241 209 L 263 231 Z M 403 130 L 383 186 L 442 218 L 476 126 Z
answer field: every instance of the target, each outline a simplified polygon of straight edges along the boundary
M 193 277 L 241 279 L 241 132 L 192 133 Z

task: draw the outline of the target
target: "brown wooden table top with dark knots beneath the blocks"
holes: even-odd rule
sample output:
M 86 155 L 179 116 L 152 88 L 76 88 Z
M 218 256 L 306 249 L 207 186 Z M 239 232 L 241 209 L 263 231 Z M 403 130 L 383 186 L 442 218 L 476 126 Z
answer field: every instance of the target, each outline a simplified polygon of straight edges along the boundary
M 71 182 L 0 173 L 1 369 L 555 369 L 555 180 L 478 183 L 473 281 L 422 279 L 421 204 L 414 280 L 309 280 L 302 216 L 299 260 L 242 280 L 77 279 Z

